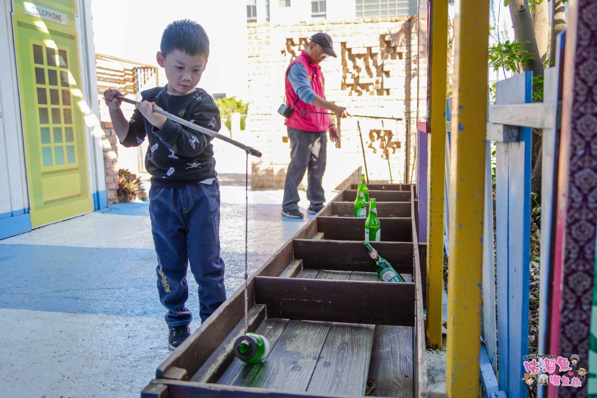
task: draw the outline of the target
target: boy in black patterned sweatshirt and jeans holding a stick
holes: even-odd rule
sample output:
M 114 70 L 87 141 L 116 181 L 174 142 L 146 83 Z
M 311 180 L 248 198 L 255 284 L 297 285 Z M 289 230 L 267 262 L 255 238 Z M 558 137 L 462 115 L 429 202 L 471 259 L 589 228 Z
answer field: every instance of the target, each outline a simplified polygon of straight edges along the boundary
M 168 84 L 141 92 L 130 121 L 122 114 L 116 90 L 104 92 L 116 135 L 125 147 L 147 137 L 145 168 L 152 175 L 149 215 L 158 257 L 159 300 L 168 312 L 168 347 L 190 335 L 192 314 L 187 261 L 199 285 L 199 316 L 204 322 L 226 300 L 224 261 L 220 257 L 220 188 L 211 137 L 186 129 L 153 112 L 164 109 L 196 125 L 220 130 L 220 112 L 207 92 L 195 88 L 205 70 L 210 43 L 201 25 L 179 20 L 164 30 L 159 66 Z

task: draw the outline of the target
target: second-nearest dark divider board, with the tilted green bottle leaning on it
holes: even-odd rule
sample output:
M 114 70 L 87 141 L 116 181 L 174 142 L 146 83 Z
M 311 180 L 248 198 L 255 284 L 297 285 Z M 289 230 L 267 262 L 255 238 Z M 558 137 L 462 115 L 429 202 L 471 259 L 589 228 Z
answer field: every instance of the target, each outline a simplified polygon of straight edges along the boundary
M 371 243 L 379 255 L 399 273 L 413 272 L 412 243 Z M 374 272 L 375 263 L 362 241 L 294 239 L 294 258 L 303 260 L 303 269 Z

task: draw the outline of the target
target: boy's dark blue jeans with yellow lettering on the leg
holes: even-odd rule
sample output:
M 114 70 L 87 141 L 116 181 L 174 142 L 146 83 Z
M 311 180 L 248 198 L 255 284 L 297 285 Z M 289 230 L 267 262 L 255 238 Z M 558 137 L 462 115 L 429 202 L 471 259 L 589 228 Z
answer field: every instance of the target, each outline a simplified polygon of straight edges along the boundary
M 199 316 L 205 321 L 226 300 L 224 260 L 220 257 L 220 184 L 183 188 L 152 185 L 149 216 L 158 257 L 159 301 L 168 326 L 189 325 L 192 314 L 187 263 L 199 285 Z

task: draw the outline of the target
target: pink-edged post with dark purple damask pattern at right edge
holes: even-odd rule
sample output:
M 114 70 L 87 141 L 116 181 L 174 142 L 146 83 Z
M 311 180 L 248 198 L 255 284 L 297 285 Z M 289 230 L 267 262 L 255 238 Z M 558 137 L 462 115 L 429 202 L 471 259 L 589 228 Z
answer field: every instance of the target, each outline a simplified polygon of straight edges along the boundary
M 597 96 L 585 92 L 595 85 L 594 47 L 597 40 L 595 0 L 571 2 L 570 23 L 564 48 L 562 125 L 559 147 L 556 226 L 553 247 L 553 281 L 549 354 L 580 355 L 589 359 L 590 303 L 595 275 L 595 142 Z M 591 372 L 594 374 L 595 369 Z M 586 396 L 587 390 L 578 396 Z M 589 384 L 591 387 L 591 384 Z M 547 397 L 576 396 L 549 385 Z M 582 394 L 582 395 L 581 395 Z

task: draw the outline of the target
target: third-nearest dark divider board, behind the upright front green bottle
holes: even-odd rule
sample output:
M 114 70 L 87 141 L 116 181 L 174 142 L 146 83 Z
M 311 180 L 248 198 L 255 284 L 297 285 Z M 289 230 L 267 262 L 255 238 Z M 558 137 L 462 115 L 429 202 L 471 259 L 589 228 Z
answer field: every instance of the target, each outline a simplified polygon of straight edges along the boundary
M 384 242 L 412 242 L 410 218 L 379 218 L 381 240 Z M 326 239 L 362 240 L 365 237 L 365 218 L 318 217 L 317 227 Z

